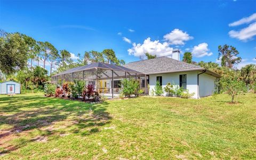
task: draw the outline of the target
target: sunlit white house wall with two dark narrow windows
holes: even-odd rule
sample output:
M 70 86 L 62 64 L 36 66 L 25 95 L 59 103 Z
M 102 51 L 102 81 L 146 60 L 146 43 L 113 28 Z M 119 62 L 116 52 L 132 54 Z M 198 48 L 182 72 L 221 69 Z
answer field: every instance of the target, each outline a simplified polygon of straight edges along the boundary
M 182 72 L 182 73 L 169 73 L 169 74 L 157 74 L 149 75 L 149 95 L 151 95 L 152 89 L 155 88 L 156 77 L 162 76 L 162 87 L 164 88 L 167 83 L 175 83 L 179 86 L 180 75 L 187 75 L 187 90 L 189 93 L 195 93 L 193 98 L 198 98 L 197 93 L 197 71 Z M 166 93 L 164 93 L 166 95 Z

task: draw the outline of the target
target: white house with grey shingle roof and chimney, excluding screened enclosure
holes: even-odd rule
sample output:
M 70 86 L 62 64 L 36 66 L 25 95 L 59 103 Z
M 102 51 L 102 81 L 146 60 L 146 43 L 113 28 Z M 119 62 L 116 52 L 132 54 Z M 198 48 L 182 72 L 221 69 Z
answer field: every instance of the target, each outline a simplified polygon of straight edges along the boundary
M 124 67 L 147 75 L 149 95 L 159 81 L 162 87 L 167 83 L 183 86 L 189 93 L 195 93 L 193 98 L 206 97 L 215 90 L 215 83 L 221 77 L 213 71 L 179 60 L 179 51 L 175 50 L 170 57 L 130 62 Z

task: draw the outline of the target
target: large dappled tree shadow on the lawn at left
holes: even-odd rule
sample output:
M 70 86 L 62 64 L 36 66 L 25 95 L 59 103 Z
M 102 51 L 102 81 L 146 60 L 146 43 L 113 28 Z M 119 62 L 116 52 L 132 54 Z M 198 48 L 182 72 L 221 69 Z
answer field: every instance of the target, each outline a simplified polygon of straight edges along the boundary
M 99 127 L 110 123 L 106 112 L 108 102 L 90 104 L 80 101 L 45 98 L 42 96 L 0 98 L 0 126 L 10 126 L 0 131 L 0 155 L 10 153 L 29 142 L 42 141 L 51 135 L 68 134 L 87 136 L 100 132 Z M 58 124 L 60 130 L 55 128 Z M 34 130 L 42 133 L 36 138 L 24 136 Z M 8 142 L 20 136 L 16 145 Z M 4 147 L 3 147 L 4 146 Z

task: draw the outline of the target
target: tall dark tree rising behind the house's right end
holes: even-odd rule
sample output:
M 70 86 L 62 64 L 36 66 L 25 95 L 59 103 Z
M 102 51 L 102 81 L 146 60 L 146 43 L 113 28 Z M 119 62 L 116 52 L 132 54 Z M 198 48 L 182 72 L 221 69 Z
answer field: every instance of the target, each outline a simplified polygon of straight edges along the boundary
M 235 47 L 229 46 L 227 44 L 221 46 L 219 45 L 219 57 L 218 60 L 221 59 L 221 66 L 232 69 L 234 65 L 237 65 L 241 62 L 241 57 L 237 57 L 239 52 Z

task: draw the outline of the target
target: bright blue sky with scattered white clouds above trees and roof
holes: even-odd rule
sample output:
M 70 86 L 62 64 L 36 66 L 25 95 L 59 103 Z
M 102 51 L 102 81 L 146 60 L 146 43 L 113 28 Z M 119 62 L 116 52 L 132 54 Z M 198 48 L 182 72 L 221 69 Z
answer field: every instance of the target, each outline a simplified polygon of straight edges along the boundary
M 0 28 L 75 55 L 111 48 L 126 63 L 144 58 L 146 51 L 170 55 L 177 47 L 193 52 L 195 61 L 215 62 L 218 45 L 228 44 L 240 52 L 241 67 L 256 62 L 254 13 L 256 1 L 239 0 L 0 0 Z

